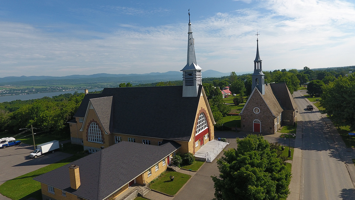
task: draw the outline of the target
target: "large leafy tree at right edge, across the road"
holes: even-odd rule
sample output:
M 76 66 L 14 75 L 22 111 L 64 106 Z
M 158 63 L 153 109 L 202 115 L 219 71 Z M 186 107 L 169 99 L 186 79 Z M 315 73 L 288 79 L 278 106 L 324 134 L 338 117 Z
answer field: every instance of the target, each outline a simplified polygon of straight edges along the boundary
M 355 73 L 349 77 L 340 76 L 323 86 L 321 95 L 324 113 L 339 125 L 350 125 L 355 130 Z

